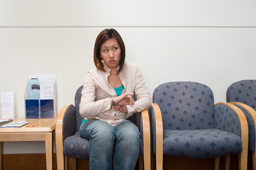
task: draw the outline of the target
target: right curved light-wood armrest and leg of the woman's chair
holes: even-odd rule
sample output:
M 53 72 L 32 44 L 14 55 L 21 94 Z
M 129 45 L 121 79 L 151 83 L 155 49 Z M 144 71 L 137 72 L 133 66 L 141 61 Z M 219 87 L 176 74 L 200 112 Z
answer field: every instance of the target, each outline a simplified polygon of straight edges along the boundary
M 150 122 L 149 113 L 147 109 L 141 111 L 142 125 L 143 125 L 143 157 L 144 157 L 144 169 L 150 169 Z

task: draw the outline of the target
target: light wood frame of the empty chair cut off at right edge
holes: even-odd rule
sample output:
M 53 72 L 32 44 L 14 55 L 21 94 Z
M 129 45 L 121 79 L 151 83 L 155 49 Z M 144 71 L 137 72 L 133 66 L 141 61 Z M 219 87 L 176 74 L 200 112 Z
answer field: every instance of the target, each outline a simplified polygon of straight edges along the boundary
M 244 103 L 241 103 L 241 102 L 229 102 L 229 103 L 244 108 L 251 115 L 252 120 L 254 121 L 254 129 L 256 130 L 256 111 L 253 108 L 251 108 L 250 106 L 245 105 Z M 255 141 L 256 141 L 256 137 L 255 137 Z M 253 164 L 253 169 L 256 170 L 256 154 L 255 154 L 255 151 L 254 151 L 254 153 L 252 153 L 252 164 Z

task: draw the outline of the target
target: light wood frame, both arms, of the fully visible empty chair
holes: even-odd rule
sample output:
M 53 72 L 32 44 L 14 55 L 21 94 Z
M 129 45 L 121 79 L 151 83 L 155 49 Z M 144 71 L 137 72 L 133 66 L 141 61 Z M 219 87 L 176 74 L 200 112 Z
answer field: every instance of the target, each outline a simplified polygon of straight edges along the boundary
M 232 105 L 231 103 L 223 103 L 219 102 L 216 103 L 214 106 L 217 105 L 226 105 L 233 109 L 238 115 L 240 125 L 241 125 L 241 139 L 242 139 L 242 152 L 239 153 L 239 170 L 246 170 L 247 169 L 247 154 L 248 154 L 248 124 L 244 113 L 236 106 Z M 163 124 L 162 124 L 162 114 L 160 111 L 159 106 L 157 103 L 152 103 L 152 108 L 154 110 L 155 118 L 156 118 L 156 169 L 162 170 L 163 169 Z M 225 169 L 229 169 L 230 165 L 230 157 L 231 155 L 225 156 Z M 246 159 L 245 159 L 246 158 Z M 214 159 L 214 169 L 218 170 L 220 164 L 220 157 Z

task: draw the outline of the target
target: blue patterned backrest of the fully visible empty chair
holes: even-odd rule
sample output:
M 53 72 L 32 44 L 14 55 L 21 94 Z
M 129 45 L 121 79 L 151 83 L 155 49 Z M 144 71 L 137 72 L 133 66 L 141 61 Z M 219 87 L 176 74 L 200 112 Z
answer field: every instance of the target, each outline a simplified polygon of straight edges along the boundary
M 153 93 L 164 129 L 199 130 L 215 128 L 214 97 L 208 86 L 196 82 L 168 82 Z

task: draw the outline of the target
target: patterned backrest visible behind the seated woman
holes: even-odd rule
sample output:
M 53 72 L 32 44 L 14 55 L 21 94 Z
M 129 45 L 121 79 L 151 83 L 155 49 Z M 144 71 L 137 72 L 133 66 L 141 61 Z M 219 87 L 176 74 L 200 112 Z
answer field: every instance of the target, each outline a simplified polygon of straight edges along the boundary
M 79 131 L 79 127 L 81 126 L 81 122 L 84 119 L 83 117 L 81 117 L 80 112 L 79 112 L 79 104 L 81 102 L 81 96 L 82 96 L 82 89 L 83 89 L 83 85 L 80 86 L 77 90 L 76 90 L 76 94 L 75 94 L 75 108 L 76 108 L 76 131 Z M 136 94 L 134 92 L 133 95 L 133 100 L 136 101 L 137 97 Z M 134 124 L 136 124 L 136 117 L 135 117 L 135 113 L 130 116 L 128 118 L 129 121 L 133 122 Z

